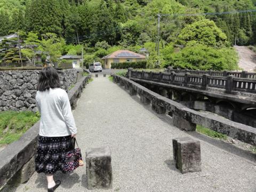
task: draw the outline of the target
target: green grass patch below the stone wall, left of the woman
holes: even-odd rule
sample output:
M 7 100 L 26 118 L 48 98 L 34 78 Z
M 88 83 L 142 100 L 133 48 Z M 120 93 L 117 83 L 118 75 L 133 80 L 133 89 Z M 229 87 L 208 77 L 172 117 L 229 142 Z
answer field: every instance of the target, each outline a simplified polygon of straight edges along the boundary
M 39 118 L 38 113 L 31 111 L 0 112 L 0 145 L 18 140 Z

